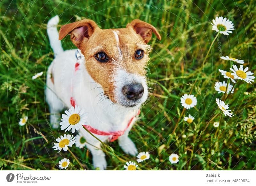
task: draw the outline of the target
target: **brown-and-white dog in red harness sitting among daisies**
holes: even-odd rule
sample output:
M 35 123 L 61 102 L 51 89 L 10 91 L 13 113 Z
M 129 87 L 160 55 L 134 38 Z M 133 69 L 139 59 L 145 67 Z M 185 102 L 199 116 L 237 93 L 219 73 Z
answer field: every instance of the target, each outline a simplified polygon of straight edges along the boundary
M 152 50 L 148 42 L 152 33 L 161 40 L 160 34 L 139 19 L 117 29 L 100 29 L 84 19 L 61 26 L 59 32 L 58 23 L 55 16 L 47 24 L 55 57 L 45 90 L 50 123 L 58 127 L 59 113 L 78 105 L 88 112 L 88 130 L 103 142 L 118 139 L 123 151 L 135 156 L 138 151 L 128 133 L 148 98 L 145 66 Z M 63 50 L 60 40 L 66 35 L 78 49 Z M 106 169 L 101 143 L 86 130 L 79 132 L 92 153 L 93 166 Z

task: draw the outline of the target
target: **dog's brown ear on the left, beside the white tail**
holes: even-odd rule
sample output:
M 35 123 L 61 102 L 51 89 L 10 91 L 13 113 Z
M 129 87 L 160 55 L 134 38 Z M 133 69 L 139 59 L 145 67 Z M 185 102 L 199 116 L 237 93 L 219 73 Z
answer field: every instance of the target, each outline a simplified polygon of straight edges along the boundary
M 81 43 L 86 43 L 97 28 L 99 28 L 97 24 L 90 19 L 83 19 L 81 21 L 69 23 L 61 26 L 59 40 L 62 40 L 67 34 L 69 34 L 74 45 L 81 49 Z

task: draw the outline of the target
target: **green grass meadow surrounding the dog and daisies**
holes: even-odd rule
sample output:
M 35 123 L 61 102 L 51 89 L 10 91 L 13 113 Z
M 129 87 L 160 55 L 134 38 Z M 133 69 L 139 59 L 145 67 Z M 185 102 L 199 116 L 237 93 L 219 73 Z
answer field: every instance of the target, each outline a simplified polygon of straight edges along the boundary
M 185 4 L 184 9 L 180 3 Z M 161 41 L 155 40 L 155 36 L 150 41 L 153 51 L 147 71 L 152 93 L 130 135 L 140 152 L 150 151 L 150 159 L 140 163 L 140 169 L 255 170 L 254 84 L 238 81 L 234 95 L 225 101 L 235 116 L 229 118 L 222 115 L 218 128 L 210 123 L 201 138 L 196 140 L 215 111 L 215 98 L 222 95 L 214 90 L 214 83 L 227 81 L 218 69 L 228 70 L 230 63 L 220 60 L 219 55 L 240 57 L 250 71 L 256 70 L 255 5 L 253 0 L 107 0 L 100 3 L 57 0 L 30 1 L 29 4 L 20 0 L 11 3 L 1 1 L 1 169 L 56 170 L 62 157 L 71 160 L 69 170 L 80 169 L 70 153 L 52 150 L 51 143 L 64 132 L 47 125 L 49 111 L 44 99 L 44 86 L 53 52 L 46 36 L 46 23 L 58 14 L 61 15 L 60 25 L 89 18 L 101 28 L 121 28 L 133 19 L 141 19 L 156 26 L 161 34 Z M 203 66 L 207 50 L 216 36 L 210 24 L 216 16 L 232 20 L 236 30 L 229 36 L 220 34 Z M 73 47 L 68 37 L 63 40 L 63 47 Z M 44 72 L 42 77 L 31 79 L 41 71 Z M 198 109 L 191 108 L 184 112 L 184 115 L 195 115 L 194 122 L 188 124 L 181 115 L 180 97 L 190 91 L 196 95 Z M 246 91 L 249 95 L 244 94 Z M 20 127 L 19 117 L 23 115 L 29 119 L 25 126 Z M 220 115 L 213 121 L 218 120 Z M 178 127 L 172 133 L 176 123 Z M 184 134 L 186 138 L 182 138 Z M 114 156 L 106 150 L 109 170 L 123 169 L 124 162 L 117 156 L 124 160 L 136 160 L 124 154 L 117 142 L 108 145 L 116 154 Z M 75 146 L 70 149 L 85 168 L 93 169 L 92 155 L 86 149 L 80 150 Z M 171 153 L 179 154 L 178 164 L 171 165 L 169 162 Z

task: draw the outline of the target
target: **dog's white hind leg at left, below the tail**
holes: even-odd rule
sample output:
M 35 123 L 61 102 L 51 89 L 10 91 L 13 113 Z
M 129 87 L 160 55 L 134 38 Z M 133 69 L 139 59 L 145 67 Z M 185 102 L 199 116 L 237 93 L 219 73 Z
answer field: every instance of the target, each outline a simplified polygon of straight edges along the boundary
M 62 101 L 57 97 L 54 91 L 53 81 L 52 81 L 52 74 L 50 65 L 48 73 L 47 73 L 47 79 L 46 79 L 46 88 L 45 88 L 45 98 L 49 105 L 50 110 L 50 123 L 52 124 L 53 128 L 58 128 L 60 124 L 60 111 L 63 110 L 63 103 Z

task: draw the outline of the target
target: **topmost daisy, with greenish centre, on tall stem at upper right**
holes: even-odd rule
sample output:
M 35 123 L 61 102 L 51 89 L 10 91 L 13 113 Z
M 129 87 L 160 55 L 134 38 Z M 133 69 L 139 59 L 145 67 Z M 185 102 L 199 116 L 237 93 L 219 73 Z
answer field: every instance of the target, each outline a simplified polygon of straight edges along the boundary
M 224 35 L 228 35 L 228 33 L 232 33 L 231 30 L 235 30 L 234 28 L 234 24 L 229 21 L 229 19 L 227 20 L 227 18 L 221 17 L 216 17 L 215 20 L 212 20 L 213 24 L 212 24 L 212 30 L 215 30 L 216 32 L 220 32 Z

